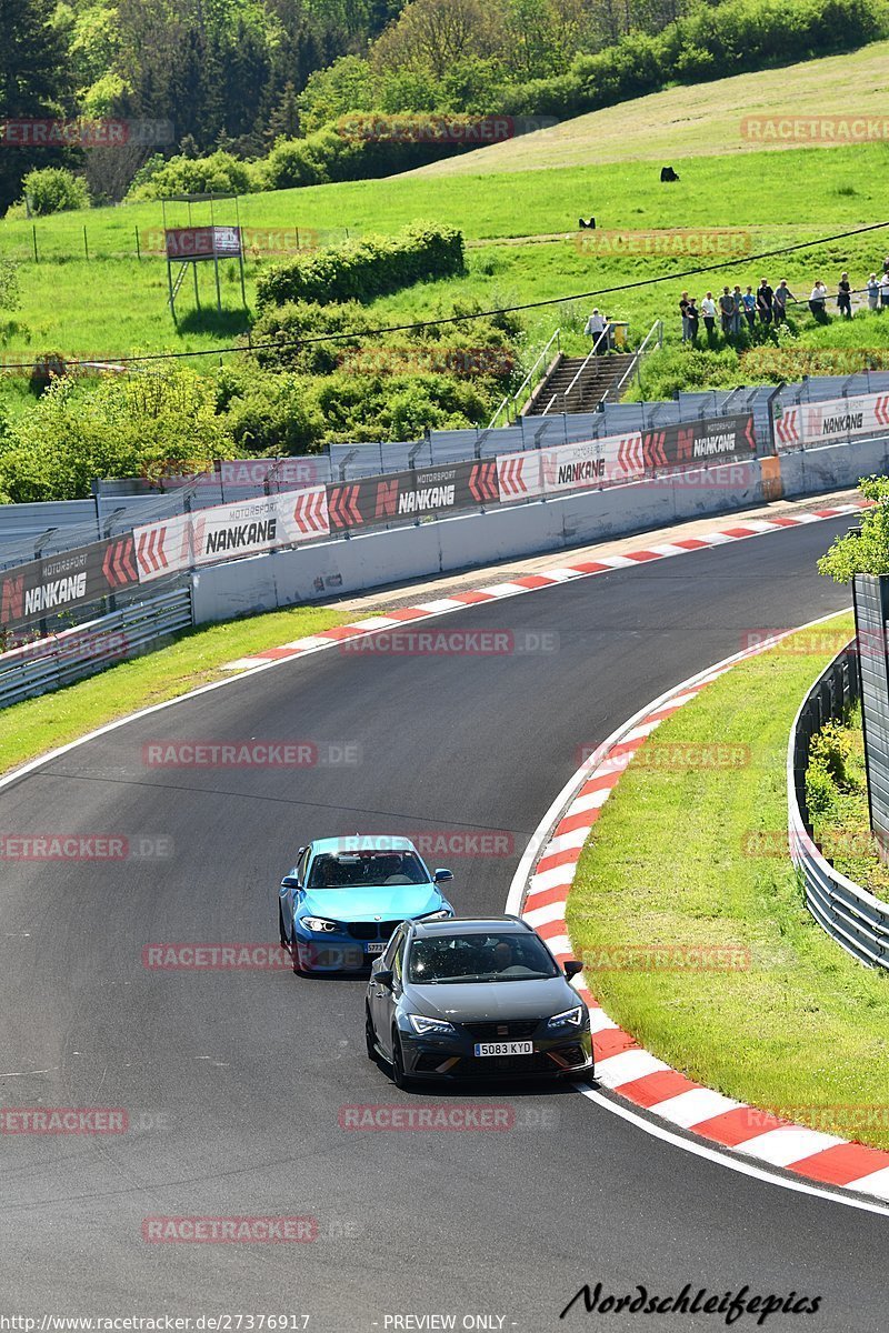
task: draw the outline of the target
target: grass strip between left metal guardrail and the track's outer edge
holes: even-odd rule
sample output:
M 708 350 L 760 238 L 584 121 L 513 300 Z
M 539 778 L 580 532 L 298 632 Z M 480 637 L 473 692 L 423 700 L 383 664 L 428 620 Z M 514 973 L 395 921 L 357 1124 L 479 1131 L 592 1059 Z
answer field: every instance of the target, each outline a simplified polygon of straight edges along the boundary
M 223 670 L 225 663 L 316 635 L 348 619 L 345 613 L 321 607 L 295 607 L 208 629 L 191 629 L 157 652 L 109 666 L 52 694 L 4 708 L 0 712 L 0 773 L 116 717 L 227 678 L 232 672 Z

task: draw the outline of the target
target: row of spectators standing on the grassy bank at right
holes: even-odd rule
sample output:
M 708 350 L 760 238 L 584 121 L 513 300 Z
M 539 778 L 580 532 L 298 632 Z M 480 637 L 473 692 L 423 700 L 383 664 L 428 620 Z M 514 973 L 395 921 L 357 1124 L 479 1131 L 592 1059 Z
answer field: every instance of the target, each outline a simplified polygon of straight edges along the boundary
M 889 255 L 884 260 L 881 276 L 877 277 L 876 273 L 872 273 L 866 285 L 861 288 L 861 292 L 868 297 L 868 309 L 885 311 L 889 308 Z M 853 289 L 849 275 L 842 272 L 834 297 L 837 313 L 841 319 L 852 319 L 852 296 Z M 828 301 L 830 299 L 828 288 L 821 279 L 816 280 L 808 297 L 794 296 L 784 277 L 776 288 L 772 287 L 768 277 L 760 279 L 760 285 L 756 291 L 752 287 L 741 291 L 737 283 L 734 287 L 726 285 L 718 296 L 714 296 L 713 292 L 706 292 L 700 303 L 697 297 L 682 292 L 680 299 L 682 341 L 694 343 L 701 324 L 704 324 L 704 332 L 709 343 L 716 341 L 717 327 L 730 340 L 737 337 L 744 329 L 752 335 L 757 324 L 766 328 L 785 324 L 789 305 L 808 304 L 816 321 L 818 324 L 828 324 L 830 320 Z

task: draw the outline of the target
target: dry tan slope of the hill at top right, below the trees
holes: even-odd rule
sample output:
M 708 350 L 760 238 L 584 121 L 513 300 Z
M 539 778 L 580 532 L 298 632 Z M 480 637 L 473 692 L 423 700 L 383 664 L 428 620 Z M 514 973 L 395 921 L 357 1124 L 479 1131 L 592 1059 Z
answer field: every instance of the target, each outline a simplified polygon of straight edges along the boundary
M 886 128 L 889 137 L 888 60 L 889 41 L 874 41 L 842 56 L 669 88 L 405 176 L 472 176 L 652 159 L 670 163 L 676 157 L 756 152 L 762 147 L 809 147 L 800 139 L 766 144 L 749 139 L 742 132 L 745 116 L 872 117 Z

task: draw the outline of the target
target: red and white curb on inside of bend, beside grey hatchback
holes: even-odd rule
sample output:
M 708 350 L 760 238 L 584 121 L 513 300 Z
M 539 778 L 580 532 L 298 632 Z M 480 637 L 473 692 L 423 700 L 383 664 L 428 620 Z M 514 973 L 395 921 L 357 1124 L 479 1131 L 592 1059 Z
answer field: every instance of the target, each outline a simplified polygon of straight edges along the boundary
M 832 617 L 826 617 L 832 619 Z M 568 784 L 545 817 L 542 838 L 532 838 L 518 868 L 506 910 L 520 910 L 560 961 L 573 957 L 565 906 L 577 862 L 602 806 L 621 774 L 660 724 L 696 698 L 710 681 L 745 659 L 754 657 L 796 631 L 774 635 L 754 648 L 674 686 L 613 733 Z M 540 856 L 534 862 L 537 848 Z M 677 1069 L 644 1050 L 608 1017 L 581 973 L 576 986 L 589 1006 L 596 1054 L 596 1078 L 636 1106 L 672 1126 L 700 1134 L 766 1166 L 780 1166 L 809 1181 L 840 1185 L 889 1200 L 889 1153 L 796 1125 L 722 1093 L 692 1082 Z

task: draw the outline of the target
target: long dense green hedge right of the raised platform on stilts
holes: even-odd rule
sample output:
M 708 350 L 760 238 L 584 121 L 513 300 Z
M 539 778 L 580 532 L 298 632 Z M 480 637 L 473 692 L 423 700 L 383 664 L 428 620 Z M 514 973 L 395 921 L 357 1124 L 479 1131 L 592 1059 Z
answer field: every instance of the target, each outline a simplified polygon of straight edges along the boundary
M 256 300 L 261 309 L 288 301 L 371 301 L 464 271 L 462 233 L 417 223 L 397 236 L 367 236 L 277 264 L 260 276 Z

